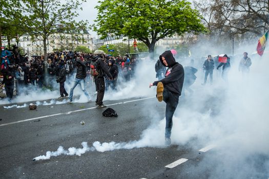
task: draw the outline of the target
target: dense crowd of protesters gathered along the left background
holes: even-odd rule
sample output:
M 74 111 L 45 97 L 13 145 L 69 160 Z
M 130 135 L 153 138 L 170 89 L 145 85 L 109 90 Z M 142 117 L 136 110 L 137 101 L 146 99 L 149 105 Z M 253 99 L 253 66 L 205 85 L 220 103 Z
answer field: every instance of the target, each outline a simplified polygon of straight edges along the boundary
M 8 75 L 7 79 L 10 81 L 9 84 L 12 84 L 11 86 L 5 85 L 5 88 L 3 88 L 2 85 L 2 91 L 5 90 L 7 92 L 7 88 L 10 88 L 10 91 L 13 92 L 14 82 L 16 94 L 19 94 L 20 89 L 24 87 L 32 87 L 33 89 L 43 88 L 45 84 L 47 84 L 45 81 L 46 71 L 48 74 L 46 79 L 48 80 L 49 86 L 51 86 L 59 76 L 61 64 L 64 64 L 66 78 L 69 80 L 70 77 L 76 73 L 76 59 L 80 59 L 86 64 L 87 80 L 92 80 L 93 78 L 90 75 L 90 66 L 94 58 L 92 53 L 72 51 L 53 52 L 47 55 L 47 63 L 45 62 L 44 56 L 28 57 L 26 55 L 27 54 L 20 55 L 16 46 L 13 46 L 12 50 L 6 50 L 5 47 L 2 47 L 0 72 L 4 78 L 5 75 Z M 116 89 L 118 77 L 122 77 L 121 79 L 123 81 L 129 81 L 134 77 L 134 70 L 137 63 L 135 58 L 129 58 L 127 56 L 114 57 L 106 54 L 103 59 L 114 79 L 113 82 L 106 80 L 106 90 L 108 90 L 109 87 Z M 9 76 L 11 77 L 10 79 Z M 11 92 L 7 93 L 9 100 L 11 100 L 12 95 Z

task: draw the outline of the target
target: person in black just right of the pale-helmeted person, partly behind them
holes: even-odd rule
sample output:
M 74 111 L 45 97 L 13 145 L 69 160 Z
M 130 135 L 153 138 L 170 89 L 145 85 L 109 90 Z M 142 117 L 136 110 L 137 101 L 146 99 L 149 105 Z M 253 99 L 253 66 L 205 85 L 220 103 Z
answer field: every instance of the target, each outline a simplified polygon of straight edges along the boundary
M 111 87 L 111 89 L 116 89 L 116 85 L 117 85 L 117 78 L 118 78 L 118 66 L 116 64 L 114 64 L 114 60 L 109 60 L 108 62 L 108 69 L 109 69 L 109 73 L 112 75 L 113 80 L 110 79 L 106 79 L 106 91 L 108 90 L 109 86 Z

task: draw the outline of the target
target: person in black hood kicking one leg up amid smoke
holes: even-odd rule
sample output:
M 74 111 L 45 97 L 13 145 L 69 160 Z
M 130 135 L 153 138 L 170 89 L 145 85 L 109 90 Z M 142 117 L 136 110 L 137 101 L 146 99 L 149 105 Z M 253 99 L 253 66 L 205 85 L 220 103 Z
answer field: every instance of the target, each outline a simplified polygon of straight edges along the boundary
M 184 69 L 180 63 L 176 62 L 170 50 L 161 54 L 159 60 L 161 61 L 162 65 L 168 67 L 168 69 L 165 72 L 165 77 L 159 81 L 150 83 L 150 87 L 157 86 L 156 97 L 158 101 L 161 102 L 163 100 L 166 103 L 165 145 L 170 145 L 173 115 L 178 105 L 178 98 L 182 91 Z

